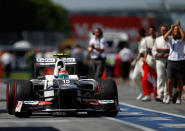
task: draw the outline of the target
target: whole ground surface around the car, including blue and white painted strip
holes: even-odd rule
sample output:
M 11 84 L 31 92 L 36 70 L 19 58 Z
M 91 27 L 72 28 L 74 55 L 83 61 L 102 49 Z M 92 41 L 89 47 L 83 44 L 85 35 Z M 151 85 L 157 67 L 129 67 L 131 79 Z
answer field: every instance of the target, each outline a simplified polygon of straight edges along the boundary
M 129 81 L 116 80 L 120 108 L 116 117 L 68 116 L 52 117 L 35 114 L 16 118 L 6 113 L 6 86 L 0 83 L 0 131 L 139 131 L 185 130 L 185 103 L 181 105 L 136 101 L 137 90 Z

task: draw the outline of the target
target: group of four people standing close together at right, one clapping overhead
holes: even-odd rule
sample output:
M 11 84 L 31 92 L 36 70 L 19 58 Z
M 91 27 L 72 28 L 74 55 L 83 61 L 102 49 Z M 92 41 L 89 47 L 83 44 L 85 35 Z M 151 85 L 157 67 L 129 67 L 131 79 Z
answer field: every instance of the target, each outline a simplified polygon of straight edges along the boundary
M 156 100 L 169 104 L 174 102 L 181 104 L 184 79 L 184 40 L 185 34 L 177 21 L 176 25 L 171 25 L 168 30 L 167 25 L 161 25 L 160 36 L 156 36 L 156 29 L 150 26 L 149 36 L 145 36 L 145 30 L 138 31 L 139 45 L 138 56 L 136 58 L 135 68 L 132 74 L 132 80 L 139 89 L 137 100 L 151 101 L 151 87 L 145 87 L 143 76 L 146 70 L 143 69 L 147 63 L 156 72 Z M 148 78 L 150 79 L 150 78 Z M 154 81 L 155 82 L 155 81 Z M 155 83 L 152 83 L 155 86 Z M 173 96 L 173 88 L 177 88 L 176 97 Z

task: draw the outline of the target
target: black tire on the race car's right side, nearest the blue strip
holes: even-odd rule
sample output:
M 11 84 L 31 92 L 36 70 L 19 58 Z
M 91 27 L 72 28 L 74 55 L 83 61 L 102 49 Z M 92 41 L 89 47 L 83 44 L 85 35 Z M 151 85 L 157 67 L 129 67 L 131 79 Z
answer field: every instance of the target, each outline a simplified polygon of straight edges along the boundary
M 114 100 L 111 106 L 105 106 L 103 115 L 116 116 L 118 114 L 118 92 L 116 82 L 112 79 L 99 80 L 100 100 Z

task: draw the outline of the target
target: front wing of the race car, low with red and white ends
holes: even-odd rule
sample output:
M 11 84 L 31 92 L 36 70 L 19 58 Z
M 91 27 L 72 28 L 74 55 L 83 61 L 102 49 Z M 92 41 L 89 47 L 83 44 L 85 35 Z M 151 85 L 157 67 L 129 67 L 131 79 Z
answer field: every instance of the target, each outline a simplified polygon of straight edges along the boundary
M 17 101 L 15 112 L 103 112 L 105 111 L 105 106 L 111 106 L 112 104 L 117 104 L 115 100 L 91 100 L 84 102 L 85 105 L 91 105 L 89 108 L 81 109 L 57 109 L 54 108 L 52 102 L 49 101 Z M 119 106 L 112 111 L 119 110 Z

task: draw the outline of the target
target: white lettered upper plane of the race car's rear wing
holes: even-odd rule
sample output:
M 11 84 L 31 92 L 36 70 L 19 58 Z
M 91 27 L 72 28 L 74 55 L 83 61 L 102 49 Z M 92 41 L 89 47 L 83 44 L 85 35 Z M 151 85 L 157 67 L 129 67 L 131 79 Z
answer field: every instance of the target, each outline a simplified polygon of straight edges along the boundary
M 63 61 L 65 65 L 76 64 L 75 58 L 36 58 L 35 60 L 37 66 L 55 66 L 58 60 Z

